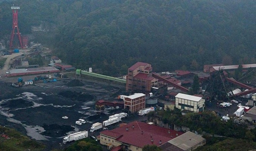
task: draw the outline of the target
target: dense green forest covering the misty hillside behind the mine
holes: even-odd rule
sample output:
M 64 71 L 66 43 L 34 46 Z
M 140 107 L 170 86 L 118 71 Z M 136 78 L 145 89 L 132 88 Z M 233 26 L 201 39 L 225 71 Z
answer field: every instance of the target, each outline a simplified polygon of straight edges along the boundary
M 137 61 L 155 71 L 255 63 L 255 0 L 17 0 L 19 27 L 56 25 L 55 55 L 77 68 L 125 74 Z M 12 2 L 0 4 L 0 36 Z

